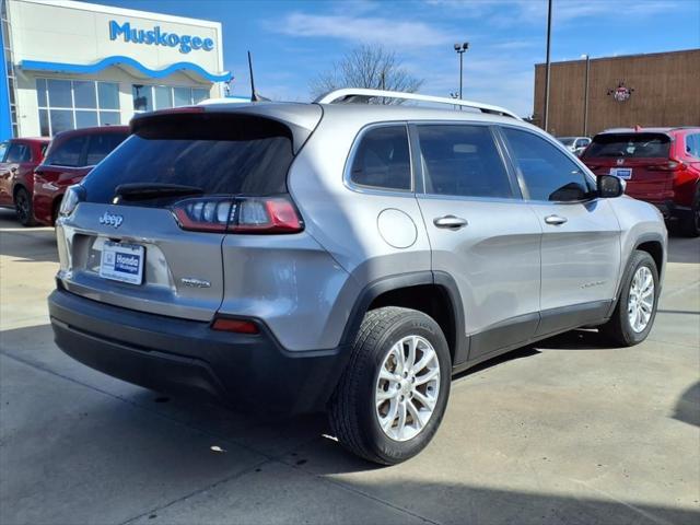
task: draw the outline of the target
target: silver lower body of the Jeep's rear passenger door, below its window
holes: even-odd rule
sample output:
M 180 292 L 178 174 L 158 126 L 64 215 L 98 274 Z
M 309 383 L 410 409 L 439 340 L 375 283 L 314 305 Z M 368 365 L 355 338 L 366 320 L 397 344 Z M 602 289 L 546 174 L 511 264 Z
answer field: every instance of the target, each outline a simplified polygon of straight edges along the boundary
M 419 196 L 432 245 L 432 269 L 459 289 L 466 334 L 539 311 L 541 228 L 522 200 Z M 434 224 L 453 214 L 459 230 Z

